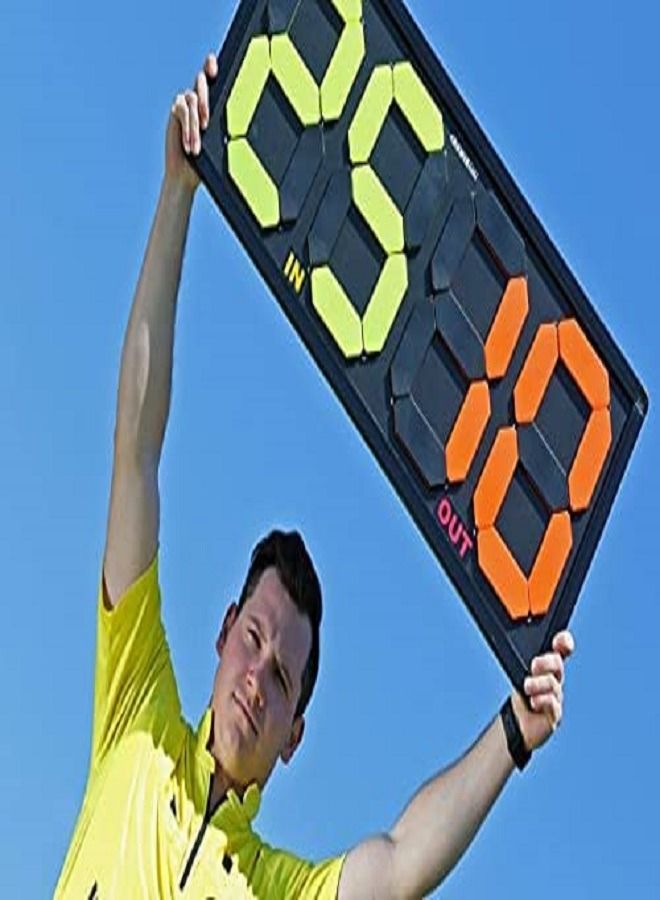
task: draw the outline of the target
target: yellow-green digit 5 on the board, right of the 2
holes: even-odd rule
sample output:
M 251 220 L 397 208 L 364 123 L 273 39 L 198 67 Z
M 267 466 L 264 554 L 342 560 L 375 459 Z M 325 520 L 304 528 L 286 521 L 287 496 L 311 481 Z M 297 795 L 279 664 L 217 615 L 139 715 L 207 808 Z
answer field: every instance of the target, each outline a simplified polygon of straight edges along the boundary
M 442 114 L 408 62 L 377 66 L 348 129 L 352 199 L 386 258 L 362 319 L 329 265 L 312 270 L 312 304 L 347 359 L 380 353 L 408 287 L 403 214 L 370 165 L 392 103 L 426 153 L 442 150 Z

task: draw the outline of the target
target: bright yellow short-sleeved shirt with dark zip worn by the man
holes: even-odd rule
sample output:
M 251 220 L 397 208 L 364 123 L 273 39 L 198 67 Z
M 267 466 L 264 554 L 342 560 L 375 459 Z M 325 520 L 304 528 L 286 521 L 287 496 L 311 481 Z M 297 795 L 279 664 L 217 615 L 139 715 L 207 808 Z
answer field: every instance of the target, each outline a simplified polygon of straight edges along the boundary
M 58 900 L 334 900 L 343 857 L 313 865 L 252 830 L 259 789 L 206 820 L 211 710 L 184 720 L 160 614 L 158 556 L 115 609 L 98 596 L 92 754 Z

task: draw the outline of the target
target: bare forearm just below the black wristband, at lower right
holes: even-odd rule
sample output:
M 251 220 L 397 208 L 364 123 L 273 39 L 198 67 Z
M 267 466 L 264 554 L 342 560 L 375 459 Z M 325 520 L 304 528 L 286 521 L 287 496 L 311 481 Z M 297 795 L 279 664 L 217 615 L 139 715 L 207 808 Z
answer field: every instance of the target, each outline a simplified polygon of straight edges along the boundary
M 465 756 L 419 790 L 392 830 L 395 896 L 421 897 L 449 874 L 513 768 L 498 715 Z

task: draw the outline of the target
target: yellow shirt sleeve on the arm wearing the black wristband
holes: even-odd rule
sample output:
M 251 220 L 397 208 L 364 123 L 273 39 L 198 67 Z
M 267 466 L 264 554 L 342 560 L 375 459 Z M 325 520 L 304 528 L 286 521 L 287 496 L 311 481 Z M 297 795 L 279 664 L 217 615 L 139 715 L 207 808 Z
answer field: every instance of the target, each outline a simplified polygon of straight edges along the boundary
M 346 854 L 311 863 L 264 845 L 260 853 L 257 883 L 258 897 L 297 900 L 336 900 L 339 878 Z

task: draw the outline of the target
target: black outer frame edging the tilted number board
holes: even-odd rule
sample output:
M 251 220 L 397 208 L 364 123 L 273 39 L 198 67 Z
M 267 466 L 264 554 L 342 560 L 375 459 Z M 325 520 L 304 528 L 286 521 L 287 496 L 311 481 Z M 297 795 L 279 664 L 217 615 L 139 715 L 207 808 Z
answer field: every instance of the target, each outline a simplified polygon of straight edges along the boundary
M 616 446 L 611 450 L 607 475 L 595 498 L 589 530 L 572 560 L 561 597 L 550 614 L 551 622 L 547 634 L 554 634 L 565 628 L 570 620 L 580 588 L 648 411 L 648 397 L 640 380 L 614 342 L 529 203 L 516 186 L 485 132 L 462 99 L 424 34 L 414 22 L 410 12 L 401 0 L 371 0 L 371 2 L 378 4 L 380 10 L 388 17 L 392 28 L 398 34 L 398 39 L 409 49 L 409 58 L 423 71 L 424 80 L 429 88 L 435 92 L 436 96 L 442 97 L 444 107 L 450 110 L 458 124 L 461 143 L 466 152 L 475 163 L 478 163 L 478 168 L 487 174 L 491 184 L 497 190 L 498 199 L 510 219 L 520 228 L 526 243 L 539 254 L 562 291 L 570 296 L 581 323 L 588 332 L 589 339 L 597 348 L 609 371 L 618 379 L 630 404 L 623 431 Z M 230 25 L 218 55 L 218 78 L 211 86 L 212 110 L 227 89 L 228 79 L 236 66 L 237 50 L 255 15 L 255 6 L 254 2 L 250 2 L 250 0 L 242 0 Z M 466 569 L 461 565 L 458 557 L 448 551 L 446 541 L 437 526 L 433 527 L 433 523 L 429 520 L 428 510 L 420 502 L 419 494 L 411 485 L 409 476 L 402 471 L 392 448 L 387 441 L 383 440 L 382 434 L 374 427 L 370 417 L 366 414 L 341 366 L 338 365 L 335 356 L 329 352 L 327 342 L 321 340 L 317 333 L 310 332 L 305 327 L 305 316 L 301 313 L 295 298 L 291 296 L 286 278 L 273 258 L 264 251 L 260 242 L 255 238 L 251 213 L 232 192 L 222 189 L 213 165 L 207 135 L 203 136 L 200 155 L 190 157 L 190 161 L 246 248 L 298 336 L 332 386 L 335 395 L 387 474 L 389 481 L 424 535 L 434 555 L 447 572 L 512 683 L 518 690 L 522 690 L 524 678 L 529 670 L 529 660 L 524 659 L 518 648 L 509 640 L 508 635 L 488 606 L 481 602 L 479 596 L 474 595 L 474 585 Z M 538 652 L 549 649 L 547 644 L 549 644 L 549 640 L 537 648 Z

